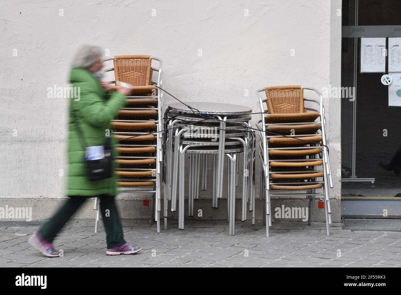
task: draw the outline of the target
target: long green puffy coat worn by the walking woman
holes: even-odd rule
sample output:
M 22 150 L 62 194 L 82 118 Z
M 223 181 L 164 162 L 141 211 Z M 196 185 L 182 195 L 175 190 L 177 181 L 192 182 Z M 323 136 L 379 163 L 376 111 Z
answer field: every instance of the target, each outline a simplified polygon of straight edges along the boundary
M 92 73 L 82 68 L 71 69 L 70 81 L 73 87 L 79 87 L 74 88 L 79 98 L 70 98 L 67 195 L 117 195 L 115 177 L 97 181 L 87 179 L 84 141 L 79 136 L 71 112 L 75 111 L 87 146 L 99 146 L 104 144 L 107 132 L 111 136 L 110 120 L 125 106 L 126 99 L 117 92 L 106 94 Z M 116 155 L 114 139 L 111 141 L 113 155 Z

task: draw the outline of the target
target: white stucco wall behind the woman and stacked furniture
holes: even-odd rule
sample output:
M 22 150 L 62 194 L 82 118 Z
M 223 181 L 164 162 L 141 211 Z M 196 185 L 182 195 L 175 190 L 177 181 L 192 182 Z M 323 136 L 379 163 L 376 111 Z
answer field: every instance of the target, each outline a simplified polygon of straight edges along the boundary
M 46 94 L 68 85 L 79 45 L 160 57 L 164 87 L 181 100 L 258 112 L 254 92 L 268 85 L 340 87 L 339 8 L 340 0 L 2 0 L 0 198 L 64 197 L 67 100 Z M 339 198 L 339 99 L 325 107 Z

